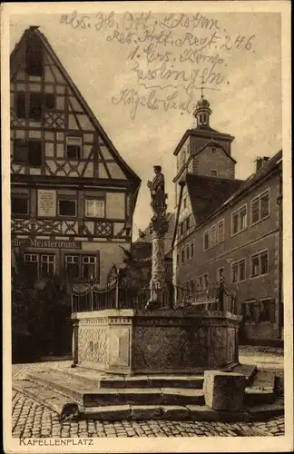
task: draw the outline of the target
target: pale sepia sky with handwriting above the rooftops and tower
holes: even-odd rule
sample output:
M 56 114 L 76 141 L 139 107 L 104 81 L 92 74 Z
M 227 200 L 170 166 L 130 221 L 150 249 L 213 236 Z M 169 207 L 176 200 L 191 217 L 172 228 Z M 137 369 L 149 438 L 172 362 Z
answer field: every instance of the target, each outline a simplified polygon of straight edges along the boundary
M 67 9 L 67 22 L 70 22 L 73 6 L 68 4 Z M 159 28 L 156 26 L 157 35 L 162 30 L 171 31 L 170 41 L 166 43 L 152 39 L 152 44 L 156 44 L 152 54 L 148 49 L 146 51 L 151 41 L 142 43 L 146 30 L 149 33 L 152 30 L 151 23 L 146 21 L 145 28 L 138 23 L 135 30 L 134 15 L 114 15 L 109 18 L 108 13 L 98 13 L 97 6 L 94 15 L 87 14 L 84 28 L 81 28 L 81 22 L 80 27 L 73 28 L 77 24 L 76 19 L 73 25 L 66 25 L 65 18 L 62 20 L 60 14 L 13 15 L 10 49 L 13 50 L 25 28 L 40 26 L 40 31 L 53 46 L 114 146 L 142 179 L 134 213 L 133 233 L 136 238 L 138 229 L 144 230 L 152 215 L 146 185 L 152 179 L 154 164 L 162 165 L 168 210 L 174 210 L 172 179 L 176 174 L 176 158 L 173 151 L 185 131 L 196 126 L 192 105 L 201 95 L 201 74 L 205 74 L 203 68 L 212 71 L 211 63 L 182 62 L 183 54 L 189 54 L 191 60 L 191 52 L 195 49 L 194 56 L 203 54 L 206 58 L 216 58 L 219 55 L 220 64 L 216 64 L 214 69 L 220 72 L 223 82 L 217 84 L 213 78 L 208 78 L 203 84 L 204 95 L 211 104 L 211 127 L 235 137 L 231 153 L 237 161 L 236 178 L 245 179 L 254 172 L 257 156 L 272 156 L 281 148 L 280 16 L 274 13 L 212 15 L 202 9 L 201 15 L 211 20 L 213 26 L 210 29 L 201 27 L 203 23 L 199 22 L 199 16 L 196 15 L 195 19 L 195 11 L 193 21 L 191 15 L 185 15 L 179 24 L 177 21 L 180 16 L 169 17 L 170 11 L 161 15 L 152 13 L 148 19 L 153 21 L 152 24 L 154 20 L 158 24 L 164 23 Z M 83 5 L 78 8 L 77 18 L 82 16 Z M 118 33 L 114 34 L 114 38 L 112 19 L 118 24 Z M 118 39 L 126 39 L 130 30 L 133 32 L 131 42 L 119 43 Z M 122 32 L 123 35 L 120 35 Z M 190 34 L 188 37 L 187 33 Z M 216 33 L 217 38 L 211 38 L 213 33 Z M 248 41 L 252 35 L 254 37 Z M 204 43 L 202 50 L 203 44 L 199 44 L 201 39 Z M 211 39 L 212 44 L 206 45 Z M 217 43 L 214 44 L 214 41 Z M 140 46 L 136 51 L 138 44 Z M 152 61 L 154 55 L 158 58 Z M 169 62 L 165 62 L 167 58 Z M 162 67 L 162 64 L 165 65 Z M 148 70 L 155 68 L 160 69 L 150 80 Z M 168 77 L 168 71 L 178 72 L 178 78 L 176 73 Z M 177 92 L 177 99 L 184 102 L 190 94 L 189 84 L 192 80 L 194 84 L 189 109 L 185 109 L 185 104 L 168 109 L 165 108 L 167 104 L 161 102 L 160 108 L 139 105 L 135 110 L 134 104 L 130 104 L 131 94 L 137 94 L 140 100 L 142 96 L 148 98 L 152 86 L 155 86 L 155 94 L 161 99 L 167 100 L 169 94 Z M 126 94 L 129 95 L 129 104 L 127 98 L 123 97 Z M 142 104 L 146 104 L 146 99 L 142 100 Z

